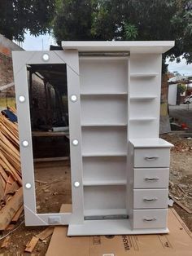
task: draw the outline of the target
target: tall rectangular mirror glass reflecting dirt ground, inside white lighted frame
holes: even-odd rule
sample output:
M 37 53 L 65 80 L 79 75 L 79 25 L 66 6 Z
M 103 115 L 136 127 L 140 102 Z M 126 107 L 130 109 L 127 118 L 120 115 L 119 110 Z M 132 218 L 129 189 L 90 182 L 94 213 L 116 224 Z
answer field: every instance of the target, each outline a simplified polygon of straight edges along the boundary
M 28 65 L 37 213 L 72 203 L 66 64 Z

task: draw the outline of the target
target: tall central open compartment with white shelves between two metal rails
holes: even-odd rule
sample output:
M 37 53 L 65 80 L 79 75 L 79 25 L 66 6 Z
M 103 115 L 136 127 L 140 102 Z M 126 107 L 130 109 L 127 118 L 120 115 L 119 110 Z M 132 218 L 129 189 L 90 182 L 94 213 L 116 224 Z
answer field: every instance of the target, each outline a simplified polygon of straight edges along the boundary
M 126 216 L 128 58 L 80 58 L 84 218 L 88 223 Z

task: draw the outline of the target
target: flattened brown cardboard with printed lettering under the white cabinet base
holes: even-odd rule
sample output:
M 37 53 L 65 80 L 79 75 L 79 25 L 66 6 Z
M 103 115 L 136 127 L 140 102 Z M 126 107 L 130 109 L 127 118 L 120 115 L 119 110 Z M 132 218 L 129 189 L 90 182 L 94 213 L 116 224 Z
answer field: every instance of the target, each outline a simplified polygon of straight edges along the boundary
M 55 227 L 46 256 L 192 256 L 191 233 L 173 209 L 168 228 L 164 235 L 68 237 L 68 227 Z

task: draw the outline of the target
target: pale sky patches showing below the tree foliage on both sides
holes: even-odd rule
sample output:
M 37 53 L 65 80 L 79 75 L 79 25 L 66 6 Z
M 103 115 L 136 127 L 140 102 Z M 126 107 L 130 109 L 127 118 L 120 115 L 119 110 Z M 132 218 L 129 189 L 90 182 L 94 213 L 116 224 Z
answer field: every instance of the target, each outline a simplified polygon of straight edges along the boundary
M 24 42 L 20 45 L 26 51 L 46 51 L 50 49 L 50 45 L 56 45 L 55 39 L 49 35 L 39 36 L 37 38 L 31 36 L 29 33 L 26 34 Z M 177 71 L 181 75 L 191 76 L 192 75 L 192 64 L 185 64 L 185 60 L 181 59 L 181 62 L 177 64 L 175 61 L 169 62 L 168 71 Z

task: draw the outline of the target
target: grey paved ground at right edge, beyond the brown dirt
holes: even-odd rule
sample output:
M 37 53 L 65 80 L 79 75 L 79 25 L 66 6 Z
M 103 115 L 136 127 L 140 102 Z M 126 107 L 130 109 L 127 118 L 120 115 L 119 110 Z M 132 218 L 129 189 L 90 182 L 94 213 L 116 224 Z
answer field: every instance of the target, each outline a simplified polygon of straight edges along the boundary
M 177 118 L 180 123 L 185 123 L 192 132 L 192 104 L 181 104 L 177 106 L 169 106 L 169 116 Z

